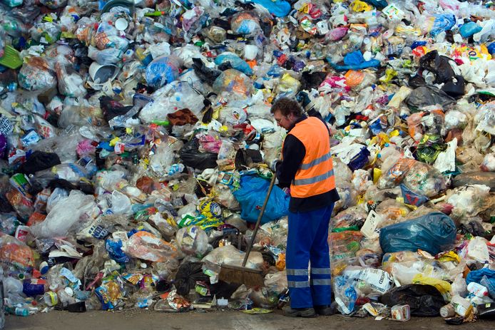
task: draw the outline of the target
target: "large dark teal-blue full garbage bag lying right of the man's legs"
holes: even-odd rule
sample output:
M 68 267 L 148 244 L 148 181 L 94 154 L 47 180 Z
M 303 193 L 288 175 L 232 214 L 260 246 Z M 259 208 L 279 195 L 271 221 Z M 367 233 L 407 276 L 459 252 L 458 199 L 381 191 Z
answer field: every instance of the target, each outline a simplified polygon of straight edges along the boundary
M 380 230 L 384 253 L 422 249 L 431 254 L 449 249 L 456 239 L 454 221 L 442 212 L 432 212 L 416 219 L 399 222 Z

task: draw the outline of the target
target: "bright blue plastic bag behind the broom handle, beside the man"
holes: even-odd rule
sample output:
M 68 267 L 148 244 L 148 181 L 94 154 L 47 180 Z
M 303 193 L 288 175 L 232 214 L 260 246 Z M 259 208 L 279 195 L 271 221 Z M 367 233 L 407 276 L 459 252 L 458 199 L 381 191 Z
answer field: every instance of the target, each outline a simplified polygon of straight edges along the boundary
M 243 175 L 240 177 L 240 189 L 235 190 L 233 195 L 240 204 L 242 209 L 240 217 L 243 220 L 256 222 L 263 202 L 265 202 L 269 186 L 270 181 L 257 175 Z M 288 215 L 289 200 L 290 196 L 279 187 L 273 186 L 261 223 L 265 224 Z

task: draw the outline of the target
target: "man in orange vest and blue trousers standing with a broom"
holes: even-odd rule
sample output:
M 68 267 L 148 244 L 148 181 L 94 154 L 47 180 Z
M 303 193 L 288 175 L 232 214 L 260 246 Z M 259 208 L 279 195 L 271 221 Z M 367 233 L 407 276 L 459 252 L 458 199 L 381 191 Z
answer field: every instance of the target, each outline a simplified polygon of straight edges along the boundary
M 278 185 L 290 189 L 285 260 L 290 307 L 285 314 L 331 315 L 328 230 L 334 204 L 340 197 L 335 190 L 330 130 L 321 116 L 305 115 L 297 100 L 280 98 L 272 105 L 271 113 L 277 125 L 287 130 L 282 160 L 272 163 Z

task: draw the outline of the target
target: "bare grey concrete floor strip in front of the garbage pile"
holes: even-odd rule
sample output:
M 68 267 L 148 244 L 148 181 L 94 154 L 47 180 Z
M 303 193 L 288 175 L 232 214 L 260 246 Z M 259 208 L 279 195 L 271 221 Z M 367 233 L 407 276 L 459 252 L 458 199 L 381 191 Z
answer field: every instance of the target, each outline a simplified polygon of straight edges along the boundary
M 455 329 L 494 329 L 494 321 L 477 321 L 471 324 L 454 326 Z M 5 330 L 299 330 L 299 329 L 352 329 L 352 330 L 442 330 L 453 329 L 440 317 L 418 318 L 407 322 L 375 321 L 348 318 L 341 315 L 320 316 L 315 319 L 292 319 L 280 312 L 264 315 L 248 315 L 240 311 L 210 311 L 181 314 L 160 313 L 158 311 L 105 312 L 88 311 L 82 314 L 66 311 L 51 311 L 29 317 L 7 316 Z

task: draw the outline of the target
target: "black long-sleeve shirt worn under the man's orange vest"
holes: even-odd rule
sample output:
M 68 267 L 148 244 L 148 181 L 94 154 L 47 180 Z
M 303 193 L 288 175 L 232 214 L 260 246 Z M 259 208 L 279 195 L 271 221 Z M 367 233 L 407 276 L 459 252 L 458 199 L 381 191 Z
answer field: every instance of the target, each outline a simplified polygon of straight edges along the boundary
M 302 115 L 295 124 L 300 123 L 307 117 Z M 321 116 L 319 116 L 321 119 Z M 289 129 L 292 130 L 295 124 Z M 326 124 L 325 124 L 326 127 Z M 330 135 L 330 131 L 328 132 Z M 302 142 L 294 135 L 287 135 L 284 140 L 284 148 L 282 150 L 283 161 L 277 163 L 276 172 L 277 179 L 280 187 L 290 187 L 290 182 L 294 180 L 297 170 L 302 164 L 302 160 L 305 158 L 306 148 Z M 290 197 L 289 210 L 290 212 L 310 212 L 332 205 L 332 203 L 340 200 L 337 190 L 332 189 L 329 192 L 324 192 L 320 195 L 311 197 Z

